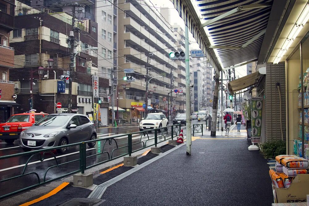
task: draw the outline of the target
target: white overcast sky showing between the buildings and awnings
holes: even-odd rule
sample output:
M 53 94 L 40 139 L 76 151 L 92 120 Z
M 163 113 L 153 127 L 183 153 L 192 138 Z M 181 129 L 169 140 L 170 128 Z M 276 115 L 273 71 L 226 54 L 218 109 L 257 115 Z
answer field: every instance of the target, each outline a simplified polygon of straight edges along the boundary
M 147 1 L 147 0 L 146 0 Z M 182 18 L 180 18 L 178 12 L 176 11 L 176 9 L 173 6 L 173 3 L 169 0 L 148 0 L 150 2 L 152 2 L 156 7 L 168 7 L 170 9 L 171 12 L 171 22 L 169 22 L 171 25 L 173 25 L 174 23 L 180 24 L 180 26 L 183 27 L 184 29 L 184 20 Z M 150 4 L 151 5 L 151 4 Z M 160 11 L 160 8 L 157 8 Z M 190 41 L 194 41 L 196 42 L 196 40 L 193 38 L 192 34 L 189 32 L 189 40 Z M 197 49 L 198 48 L 198 44 L 190 44 L 190 49 Z M 239 62 L 241 63 L 241 62 Z M 247 75 L 247 66 L 243 65 L 241 67 L 237 67 L 235 68 L 235 75 L 236 78 L 239 77 L 243 77 Z

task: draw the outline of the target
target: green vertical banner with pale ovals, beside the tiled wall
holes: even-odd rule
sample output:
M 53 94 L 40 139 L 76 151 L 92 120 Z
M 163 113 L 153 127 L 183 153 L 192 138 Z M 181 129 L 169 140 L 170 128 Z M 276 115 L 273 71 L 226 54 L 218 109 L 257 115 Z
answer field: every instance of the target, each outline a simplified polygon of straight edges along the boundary
M 252 136 L 251 142 L 259 143 L 261 141 L 262 133 L 262 97 L 251 97 L 251 110 L 252 110 Z

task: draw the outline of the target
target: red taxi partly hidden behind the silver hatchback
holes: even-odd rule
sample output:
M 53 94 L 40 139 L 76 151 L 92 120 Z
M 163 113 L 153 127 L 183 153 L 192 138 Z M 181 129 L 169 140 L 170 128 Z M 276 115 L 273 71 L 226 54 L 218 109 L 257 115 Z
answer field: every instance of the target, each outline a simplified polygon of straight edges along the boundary
M 46 115 L 48 114 L 21 113 L 10 116 L 6 123 L 0 124 L 0 139 L 13 144 L 19 138 L 20 132 L 31 127 Z

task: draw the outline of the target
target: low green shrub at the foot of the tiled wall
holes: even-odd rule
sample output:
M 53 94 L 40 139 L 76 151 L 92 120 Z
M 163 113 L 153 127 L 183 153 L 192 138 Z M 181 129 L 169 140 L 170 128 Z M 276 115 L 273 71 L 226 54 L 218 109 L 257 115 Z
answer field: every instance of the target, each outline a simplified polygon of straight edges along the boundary
M 275 140 L 260 145 L 260 153 L 265 159 L 274 159 L 277 155 L 286 154 L 286 142 Z

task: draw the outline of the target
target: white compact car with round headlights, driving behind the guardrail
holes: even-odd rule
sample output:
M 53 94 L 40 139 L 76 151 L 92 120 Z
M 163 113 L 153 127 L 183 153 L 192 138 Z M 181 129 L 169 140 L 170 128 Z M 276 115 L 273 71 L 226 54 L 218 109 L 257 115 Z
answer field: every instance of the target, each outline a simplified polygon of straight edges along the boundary
M 168 120 L 162 113 L 149 113 L 142 121 L 139 123 L 139 131 L 148 129 L 157 129 L 161 127 L 166 127 L 168 125 Z M 161 130 L 159 130 L 161 131 Z

